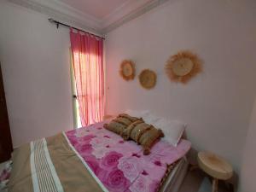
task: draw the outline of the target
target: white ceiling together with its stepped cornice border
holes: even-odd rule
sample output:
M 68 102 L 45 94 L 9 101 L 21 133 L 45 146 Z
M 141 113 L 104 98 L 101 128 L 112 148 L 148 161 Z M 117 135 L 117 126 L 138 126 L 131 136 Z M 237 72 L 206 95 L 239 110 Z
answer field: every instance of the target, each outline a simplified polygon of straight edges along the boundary
M 7 0 L 98 35 L 168 0 Z

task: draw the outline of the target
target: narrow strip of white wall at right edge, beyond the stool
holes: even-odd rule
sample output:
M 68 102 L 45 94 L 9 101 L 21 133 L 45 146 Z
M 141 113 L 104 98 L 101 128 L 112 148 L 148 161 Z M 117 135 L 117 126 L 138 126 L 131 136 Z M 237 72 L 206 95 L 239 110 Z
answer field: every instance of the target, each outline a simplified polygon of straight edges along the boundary
M 247 132 L 247 140 L 244 148 L 243 160 L 241 164 L 241 192 L 255 192 L 255 172 L 256 172 L 256 99 L 254 102 L 251 124 Z

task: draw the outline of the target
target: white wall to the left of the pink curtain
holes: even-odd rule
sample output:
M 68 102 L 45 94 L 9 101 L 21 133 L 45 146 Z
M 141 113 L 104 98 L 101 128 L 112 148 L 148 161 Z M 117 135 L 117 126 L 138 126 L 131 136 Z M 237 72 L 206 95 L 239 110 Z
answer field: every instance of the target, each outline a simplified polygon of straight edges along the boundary
M 73 128 L 68 29 L 0 3 L 0 61 L 14 146 Z

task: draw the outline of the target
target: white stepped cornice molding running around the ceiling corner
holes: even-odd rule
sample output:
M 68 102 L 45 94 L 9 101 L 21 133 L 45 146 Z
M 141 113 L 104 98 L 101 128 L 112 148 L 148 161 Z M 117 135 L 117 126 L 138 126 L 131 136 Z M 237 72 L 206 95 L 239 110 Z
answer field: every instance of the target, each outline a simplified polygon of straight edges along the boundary
M 7 1 L 26 7 L 27 9 L 32 9 L 44 15 L 49 15 L 49 17 L 52 17 L 55 20 L 67 22 L 70 25 L 102 36 L 169 0 L 137 0 L 135 2 L 124 3 L 102 20 L 98 20 L 92 15 L 88 15 L 78 9 L 74 9 L 67 5 L 67 3 L 62 3 L 60 0 Z

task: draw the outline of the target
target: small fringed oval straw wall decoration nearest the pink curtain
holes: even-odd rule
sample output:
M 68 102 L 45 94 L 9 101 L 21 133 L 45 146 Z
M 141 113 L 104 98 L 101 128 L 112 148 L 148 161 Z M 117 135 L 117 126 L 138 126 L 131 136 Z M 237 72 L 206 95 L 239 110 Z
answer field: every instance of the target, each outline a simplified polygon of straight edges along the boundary
M 119 73 L 126 81 L 132 80 L 135 77 L 135 64 L 131 60 L 122 61 Z

